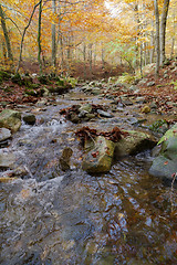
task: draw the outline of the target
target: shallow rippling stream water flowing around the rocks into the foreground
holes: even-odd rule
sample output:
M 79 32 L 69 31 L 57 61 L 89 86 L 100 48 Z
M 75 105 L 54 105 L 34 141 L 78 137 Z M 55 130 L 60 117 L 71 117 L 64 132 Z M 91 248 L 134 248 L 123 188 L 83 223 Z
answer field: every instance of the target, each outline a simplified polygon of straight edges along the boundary
M 115 161 L 108 173 L 84 172 L 83 150 L 74 136 L 83 125 L 59 114 L 82 100 L 76 91 L 54 106 L 33 107 L 37 125 L 23 124 L 2 149 L 15 155 L 27 174 L 0 183 L 0 264 L 177 264 L 177 190 L 148 174 L 149 151 Z M 127 108 L 86 125 L 127 129 L 132 118 Z M 63 172 L 59 158 L 65 147 L 73 156 L 71 170 Z

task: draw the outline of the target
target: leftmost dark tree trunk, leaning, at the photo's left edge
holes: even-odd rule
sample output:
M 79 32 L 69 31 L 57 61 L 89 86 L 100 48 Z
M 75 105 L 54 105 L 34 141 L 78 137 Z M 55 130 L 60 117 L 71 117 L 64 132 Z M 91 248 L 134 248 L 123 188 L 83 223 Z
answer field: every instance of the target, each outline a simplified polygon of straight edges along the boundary
M 7 45 L 7 51 L 8 51 L 8 59 L 11 62 L 13 62 L 11 44 L 10 44 L 9 34 L 8 34 L 7 24 L 6 24 L 6 19 L 4 19 L 4 13 L 3 13 L 1 4 L 0 4 L 0 18 L 1 18 L 1 25 L 2 25 L 2 31 L 3 31 L 3 35 L 4 35 L 4 41 L 6 41 L 6 45 Z

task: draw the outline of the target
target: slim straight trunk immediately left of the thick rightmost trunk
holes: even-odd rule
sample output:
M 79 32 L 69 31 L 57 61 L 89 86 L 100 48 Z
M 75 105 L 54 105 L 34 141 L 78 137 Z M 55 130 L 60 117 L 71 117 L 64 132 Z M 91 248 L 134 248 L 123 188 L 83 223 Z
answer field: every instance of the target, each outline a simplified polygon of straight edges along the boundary
M 156 76 L 159 75 L 159 59 L 160 59 L 160 50 L 159 50 L 159 12 L 158 12 L 158 2 L 154 0 L 155 8 L 155 18 L 156 18 Z

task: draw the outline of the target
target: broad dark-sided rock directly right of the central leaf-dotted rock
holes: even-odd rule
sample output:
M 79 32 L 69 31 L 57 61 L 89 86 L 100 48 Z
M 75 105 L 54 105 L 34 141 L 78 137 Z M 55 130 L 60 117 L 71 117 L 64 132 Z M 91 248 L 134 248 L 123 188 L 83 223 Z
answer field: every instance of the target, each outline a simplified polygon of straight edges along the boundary
M 126 132 L 128 135 L 115 144 L 115 159 L 152 149 L 156 144 L 155 139 L 148 134 L 135 130 L 127 130 Z

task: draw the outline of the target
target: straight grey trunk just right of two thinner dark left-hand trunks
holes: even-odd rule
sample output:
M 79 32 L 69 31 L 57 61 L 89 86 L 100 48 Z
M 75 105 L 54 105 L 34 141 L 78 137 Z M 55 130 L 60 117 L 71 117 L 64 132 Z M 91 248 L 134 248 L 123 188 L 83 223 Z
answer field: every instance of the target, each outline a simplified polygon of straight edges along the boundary
M 56 12 L 56 2 L 55 0 L 52 0 L 52 11 L 53 13 Z M 55 30 L 55 23 L 52 23 L 52 66 L 56 67 L 56 30 Z

